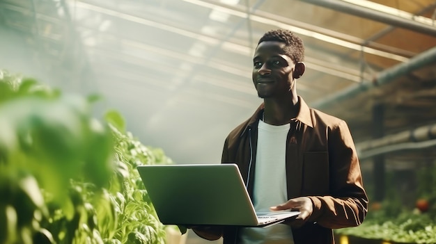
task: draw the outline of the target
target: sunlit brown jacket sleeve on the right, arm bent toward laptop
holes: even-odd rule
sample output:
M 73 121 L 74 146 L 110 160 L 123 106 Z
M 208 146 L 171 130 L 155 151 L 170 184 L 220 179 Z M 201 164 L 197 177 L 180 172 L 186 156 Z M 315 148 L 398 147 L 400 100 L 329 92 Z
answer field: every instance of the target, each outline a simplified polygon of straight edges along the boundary
M 343 120 L 327 133 L 331 194 L 309 197 L 313 202 L 309 221 L 330 229 L 355 227 L 368 211 L 355 145 Z

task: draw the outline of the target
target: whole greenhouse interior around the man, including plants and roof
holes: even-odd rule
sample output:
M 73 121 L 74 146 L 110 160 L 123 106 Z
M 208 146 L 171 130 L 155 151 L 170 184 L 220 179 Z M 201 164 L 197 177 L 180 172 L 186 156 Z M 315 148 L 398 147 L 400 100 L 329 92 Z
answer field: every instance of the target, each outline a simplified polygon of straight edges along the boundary
M 221 163 L 274 29 L 355 143 L 368 213 L 335 242 L 436 243 L 435 0 L 0 0 L 0 244 L 223 243 L 160 222 L 137 166 Z

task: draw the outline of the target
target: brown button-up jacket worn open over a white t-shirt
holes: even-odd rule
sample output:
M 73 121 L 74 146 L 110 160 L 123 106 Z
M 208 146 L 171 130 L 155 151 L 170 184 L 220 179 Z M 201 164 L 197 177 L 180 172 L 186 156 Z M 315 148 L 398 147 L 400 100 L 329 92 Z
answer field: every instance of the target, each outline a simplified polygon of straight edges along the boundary
M 313 213 L 302 227 L 293 227 L 295 244 L 334 243 L 332 229 L 355 227 L 364 220 L 368 197 L 362 185 L 355 145 L 348 125 L 309 108 L 299 97 L 286 146 L 288 199 L 308 196 Z M 229 133 L 222 163 L 237 163 L 252 196 L 258 121 L 263 104 L 247 121 Z M 237 243 L 238 229 L 224 230 L 224 243 Z

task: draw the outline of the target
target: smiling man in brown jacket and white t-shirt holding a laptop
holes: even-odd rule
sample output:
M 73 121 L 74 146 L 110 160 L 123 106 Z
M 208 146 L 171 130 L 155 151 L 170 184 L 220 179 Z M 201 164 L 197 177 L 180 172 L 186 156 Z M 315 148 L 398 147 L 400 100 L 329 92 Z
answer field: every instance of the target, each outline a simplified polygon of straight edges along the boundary
M 256 211 L 295 209 L 295 220 L 266 228 L 194 228 L 227 243 L 334 243 L 332 229 L 364 220 L 366 196 L 348 125 L 297 95 L 302 40 L 283 29 L 260 38 L 253 82 L 263 104 L 229 133 L 222 163 L 237 163 Z

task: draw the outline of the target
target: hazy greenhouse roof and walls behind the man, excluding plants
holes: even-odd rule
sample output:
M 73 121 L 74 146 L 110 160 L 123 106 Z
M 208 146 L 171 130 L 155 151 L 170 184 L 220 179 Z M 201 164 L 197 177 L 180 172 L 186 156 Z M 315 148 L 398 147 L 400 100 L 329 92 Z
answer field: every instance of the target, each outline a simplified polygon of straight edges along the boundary
M 348 122 L 366 188 L 416 192 L 436 158 L 435 0 L 0 0 L 0 68 L 98 93 L 176 163 L 219 163 L 260 104 L 252 54 L 270 29 L 306 47 L 299 95 Z M 391 188 L 389 182 L 395 182 Z M 414 194 L 403 194 L 412 204 Z

